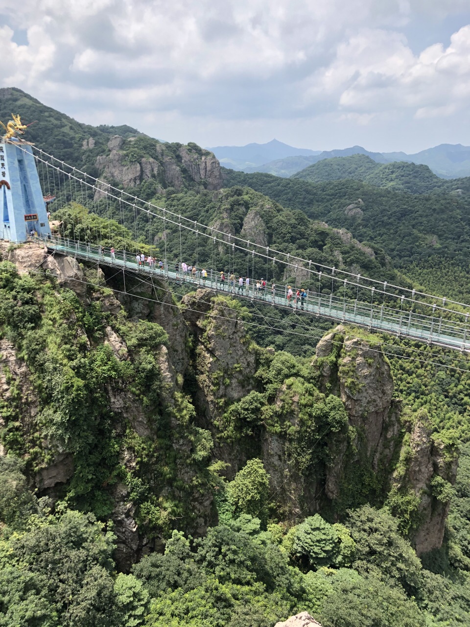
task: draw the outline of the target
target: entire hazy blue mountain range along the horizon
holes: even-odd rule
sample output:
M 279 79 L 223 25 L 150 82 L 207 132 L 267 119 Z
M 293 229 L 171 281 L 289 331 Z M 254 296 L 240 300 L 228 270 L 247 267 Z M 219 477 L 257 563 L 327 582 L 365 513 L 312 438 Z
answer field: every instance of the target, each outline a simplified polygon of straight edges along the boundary
M 462 146 L 461 144 L 440 144 L 415 154 L 370 152 L 362 146 L 320 152 L 319 150 L 296 149 L 274 139 L 268 144 L 219 146 L 209 150 L 214 152 L 217 159 L 225 167 L 244 172 L 267 172 L 285 178 L 293 176 L 296 172 L 323 161 L 323 159 L 350 157 L 355 154 L 367 155 L 373 161 L 382 164 L 396 161 L 424 164 L 443 179 L 470 175 L 470 146 Z M 279 155 L 279 152 L 283 151 L 285 154 Z M 263 156 L 268 157 L 268 155 L 271 158 L 262 162 Z

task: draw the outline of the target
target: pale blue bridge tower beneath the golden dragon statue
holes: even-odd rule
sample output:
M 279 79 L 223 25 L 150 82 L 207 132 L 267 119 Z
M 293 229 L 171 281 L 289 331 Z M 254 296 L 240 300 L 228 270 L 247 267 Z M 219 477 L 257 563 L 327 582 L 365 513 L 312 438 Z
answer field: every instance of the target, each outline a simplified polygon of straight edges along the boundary
M 0 140 L 0 238 L 20 243 L 51 229 L 33 149 L 16 138 Z

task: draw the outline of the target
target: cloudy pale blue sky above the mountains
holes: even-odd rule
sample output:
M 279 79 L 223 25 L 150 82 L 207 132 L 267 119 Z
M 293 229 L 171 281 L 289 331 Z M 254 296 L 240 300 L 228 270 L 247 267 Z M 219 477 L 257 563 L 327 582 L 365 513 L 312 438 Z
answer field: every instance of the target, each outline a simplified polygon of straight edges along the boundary
M 0 85 L 203 146 L 470 145 L 470 0 L 4 0 Z

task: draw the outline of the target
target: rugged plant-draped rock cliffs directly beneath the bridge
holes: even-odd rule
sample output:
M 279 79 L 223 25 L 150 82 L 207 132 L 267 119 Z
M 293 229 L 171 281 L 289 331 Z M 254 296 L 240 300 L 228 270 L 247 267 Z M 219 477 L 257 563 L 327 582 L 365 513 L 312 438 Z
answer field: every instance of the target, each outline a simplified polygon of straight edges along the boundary
M 23 273 L 5 270 L 12 307 L 41 315 L 1 340 L 0 453 L 27 460 L 38 495 L 113 520 L 120 569 L 175 527 L 203 534 L 217 520 L 211 462 L 231 479 L 253 457 L 286 517 L 335 520 L 411 491 L 417 550 L 441 545 L 456 459 L 424 416 L 404 419 L 379 346 L 337 327 L 300 363 L 254 345 L 247 312 L 211 290 L 179 307 L 164 283 L 129 276 L 135 298 L 107 268 L 25 250 L 8 253 Z

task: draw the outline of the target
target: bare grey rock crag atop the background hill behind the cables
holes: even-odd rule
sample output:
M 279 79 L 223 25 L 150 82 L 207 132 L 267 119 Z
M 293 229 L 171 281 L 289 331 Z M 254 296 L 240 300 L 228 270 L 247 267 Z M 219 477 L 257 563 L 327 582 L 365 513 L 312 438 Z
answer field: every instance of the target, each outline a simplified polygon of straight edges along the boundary
M 164 193 L 167 187 L 177 190 L 194 186 L 209 190 L 222 187 L 219 161 L 209 150 L 196 144 L 177 144 L 169 149 L 166 144 L 150 138 L 141 148 L 140 141 L 142 138 L 125 140 L 114 135 L 108 142 L 109 154 L 97 157 L 100 177 L 109 182 L 116 181 L 124 187 L 155 181 L 154 193 L 157 194 Z M 99 196 L 100 191 L 97 192 Z

